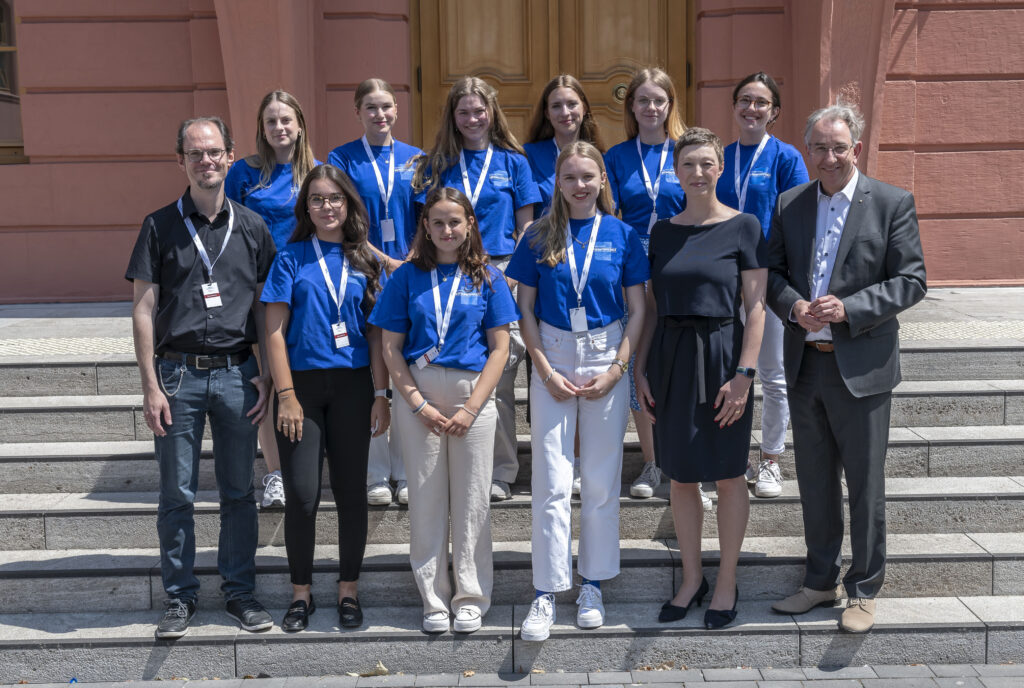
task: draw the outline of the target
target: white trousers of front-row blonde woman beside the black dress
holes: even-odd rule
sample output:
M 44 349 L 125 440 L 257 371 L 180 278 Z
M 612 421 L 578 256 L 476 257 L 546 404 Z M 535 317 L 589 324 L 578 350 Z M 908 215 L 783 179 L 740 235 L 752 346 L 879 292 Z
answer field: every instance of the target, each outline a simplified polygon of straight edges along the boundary
M 611 365 L 622 341 L 617 321 L 573 334 L 541 322 L 548 362 L 582 386 Z M 630 394 L 624 376 L 599 399 L 556 400 L 537 368 L 530 379 L 534 587 L 548 593 L 572 587 L 572 442 L 580 426 L 580 574 L 606 580 L 618 574 L 618 496 Z

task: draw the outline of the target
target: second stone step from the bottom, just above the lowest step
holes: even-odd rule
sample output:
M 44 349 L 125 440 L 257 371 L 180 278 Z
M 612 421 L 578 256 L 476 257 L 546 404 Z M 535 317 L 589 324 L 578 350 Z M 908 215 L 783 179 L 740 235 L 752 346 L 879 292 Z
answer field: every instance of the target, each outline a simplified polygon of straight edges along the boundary
M 621 573 L 605 580 L 608 599 L 620 602 L 664 602 L 682 580 L 674 541 L 636 540 L 621 544 Z M 718 541 L 706 539 L 705 572 L 714 585 Z M 216 606 L 220 575 L 216 549 L 200 548 L 196 574 L 200 602 Z M 573 556 L 575 548 L 573 548 Z M 748 538 L 739 556 L 740 599 L 772 600 L 801 585 L 802 538 Z M 849 564 L 849 543 L 844 555 Z M 336 596 L 337 548 L 316 548 L 313 597 Z M 530 545 L 496 543 L 494 604 L 513 604 L 534 594 Z M 256 596 L 267 606 L 291 602 L 288 558 L 283 547 L 262 547 L 256 556 Z M 1024 573 L 1024 534 L 947 533 L 890 535 L 885 597 L 949 595 L 1015 595 Z M 166 597 L 156 549 L 19 550 L 0 552 L 0 608 L 5 613 L 59 612 L 83 604 L 114 610 L 161 609 Z M 574 591 L 559 593 L 563 603 Z M 420 595 L 409 565 L 406 545 L 369 545 L 359 576 L 359 599 L 373 606 L 418 606 Z

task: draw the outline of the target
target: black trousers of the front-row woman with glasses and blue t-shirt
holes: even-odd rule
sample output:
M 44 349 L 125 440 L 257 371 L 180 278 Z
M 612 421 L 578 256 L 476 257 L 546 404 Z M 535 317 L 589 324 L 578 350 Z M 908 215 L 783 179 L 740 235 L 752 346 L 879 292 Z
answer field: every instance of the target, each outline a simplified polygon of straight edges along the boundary
M 339 579 L 356 580 L 367 549 L 367 458 L 374 402 L 370 368 L 292 371 L 292 385 L 302 405 L 302 441 L 293 443 L 276 432 L 292 584 L 308 586 L 313 580 L 325 449 L 338 508 Z

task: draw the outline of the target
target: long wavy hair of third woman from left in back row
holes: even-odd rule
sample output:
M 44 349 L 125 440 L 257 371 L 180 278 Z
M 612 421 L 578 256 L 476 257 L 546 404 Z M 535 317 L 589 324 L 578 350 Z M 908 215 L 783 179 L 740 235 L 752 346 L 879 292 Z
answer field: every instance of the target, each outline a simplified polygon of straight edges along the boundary
M 462 134 L 455 124 L 455 111 L 459 101 L 467 95 L 478 95 L 487 109 L 490 120 L 490 142 L 497 146 L 514 150 L 525 156 L 515 134 L 509 129 L 508 121 L 498 104 L 498 91 L 487 82 L 477 77 L 463 77 L 452 85 L 447 99 L 444 102 L 444 113 L 437 129 L 434 147 L 420 156 L 416 163 L 416 173 L 413 175 L 413 188 L 423 190 L 440 185 L 441 177 L 450 168 L 459 162 L 459 153 L 463 147 Z M 427 176 L 429 171 L 430 176 Z

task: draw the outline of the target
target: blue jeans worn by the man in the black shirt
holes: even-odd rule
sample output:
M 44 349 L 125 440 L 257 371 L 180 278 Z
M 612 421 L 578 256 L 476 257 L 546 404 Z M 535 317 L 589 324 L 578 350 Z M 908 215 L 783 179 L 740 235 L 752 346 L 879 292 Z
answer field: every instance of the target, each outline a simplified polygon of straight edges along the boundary
M 195 600 L 194 502 L 207 415 L 213 433 L 214 472 L 220 492 L 217 568 L 228 600 L 251 597 L 256 585 L 256 502 L 253 462 L 257 426 L 246 413 L 258 397 L 250 379 L 259 375 L 256 358 L 241 365 L 203 371 L 183 362 L 156 360 L 157 375 L 171 405 L 167 435 L 156 437 L 160 466 L 160 567 L 172 598 Z

